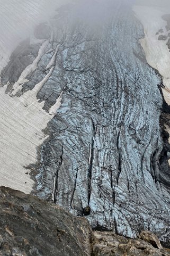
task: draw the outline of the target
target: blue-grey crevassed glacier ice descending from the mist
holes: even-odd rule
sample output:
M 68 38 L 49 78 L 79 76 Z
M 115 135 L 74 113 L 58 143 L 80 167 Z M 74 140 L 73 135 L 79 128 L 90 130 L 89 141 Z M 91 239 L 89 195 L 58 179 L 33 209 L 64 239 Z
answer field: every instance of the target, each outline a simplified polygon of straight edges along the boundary
M 20 96 L 54 67 L 38 98 L 46 101 L 46 111 L 62 98 L 39 162 L 30 166 L 33 193 L 79 216 L 89 206 L 93 228 L 130 237 L 149 229 L 167 241 L 170 179 L 162 168 L 167 158 L 159 162 L 162 81 L 146 62 L 139 43 L 144 29 L 131 6 L 120 1 L 87 6 L 86 1 L 86 8 L 83 3 L 60 8 L 37 69 L 15 86 L 14 96 Z M 20 78 L 15 70 L 20 57 L 24 70 L 40 46 L 25 45 L 25 62 L 23 50 L 11 57 L 2 72 L 8 91 Z

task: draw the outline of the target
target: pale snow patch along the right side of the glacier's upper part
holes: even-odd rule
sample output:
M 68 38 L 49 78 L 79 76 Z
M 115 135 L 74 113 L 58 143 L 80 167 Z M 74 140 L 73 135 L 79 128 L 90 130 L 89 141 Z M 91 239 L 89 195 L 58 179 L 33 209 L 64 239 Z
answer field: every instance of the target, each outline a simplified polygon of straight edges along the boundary
M 163 94 L 165 101 L 170 105 L 170 53 L 166 45 L 167 40 L 158 40 L 159 29 L 166 31 L 166 21 L 162 19 L 167 9 L 161 7 L 134 6 L 133 11 L 144 26 L 145 38 L 140 39 L 145 51 L 148 64 L 158 70 L 163 78 Z

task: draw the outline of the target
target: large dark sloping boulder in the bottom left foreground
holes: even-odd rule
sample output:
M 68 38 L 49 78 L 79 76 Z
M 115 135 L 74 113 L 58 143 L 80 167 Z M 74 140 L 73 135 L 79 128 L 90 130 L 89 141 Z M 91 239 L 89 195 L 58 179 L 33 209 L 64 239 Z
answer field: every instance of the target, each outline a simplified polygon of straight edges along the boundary
M 55 204 L 0 188 L 0 255 L 91 255 L 91 228 Z

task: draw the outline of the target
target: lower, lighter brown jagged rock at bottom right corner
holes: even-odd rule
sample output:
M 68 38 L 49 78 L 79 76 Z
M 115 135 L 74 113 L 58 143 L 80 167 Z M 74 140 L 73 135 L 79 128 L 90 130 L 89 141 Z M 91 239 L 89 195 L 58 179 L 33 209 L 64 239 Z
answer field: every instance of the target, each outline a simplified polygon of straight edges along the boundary
M 144 240 L 130 239 L 111 232 L 94 232 L 93 256 L 168 256 L 170 252 L 160 245 L 150 232 L 142 232 Z M 146 242 L 149 241 L 149 242 Z M 151 243 L 150 243 L 151 242 Z

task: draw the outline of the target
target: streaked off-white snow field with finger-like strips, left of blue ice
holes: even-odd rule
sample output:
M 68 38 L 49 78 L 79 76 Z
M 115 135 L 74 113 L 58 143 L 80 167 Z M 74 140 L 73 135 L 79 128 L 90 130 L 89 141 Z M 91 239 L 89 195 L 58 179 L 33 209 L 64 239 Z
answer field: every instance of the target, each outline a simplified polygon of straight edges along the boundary
M 26 81 L 26 76 L 37 68 L 48 41 L 44 41 L 37 58 L 25 68 L 18 81 L 14 84 L 14 95 Z M 51 61 L 51 63 L 53 60 Z M 49 66 L 50 67 L 50 66 Z M 50 78 L 54 67 L 47 75 L 21 97 L 13 97 L 6 93 L 7 85 L 0 87 L 0 186 L 8 186 L 24 193 L 30 193 L 34 181 L 28 175 L 30 164 L 37 162 L 37 148 L 48 138 L 43 129 L 56 114 L 62 100 L 62 93 L 49 113 L 43 110 L 44 102 L 39 103 L 37 93 Z

